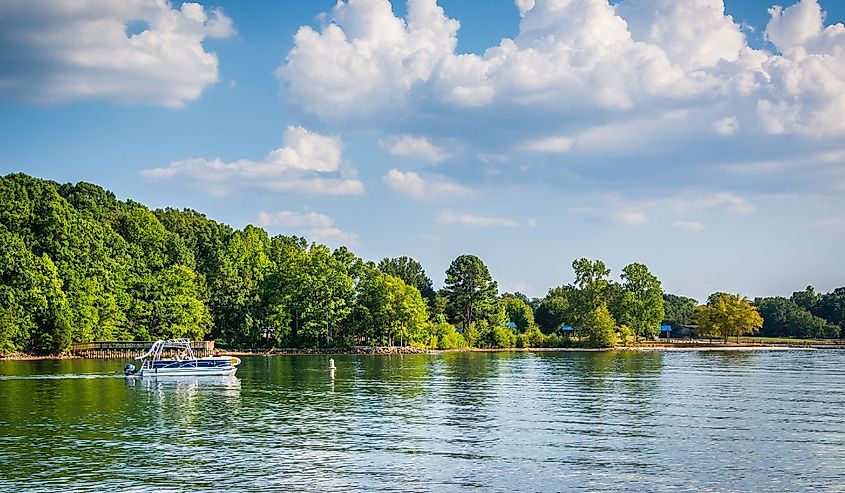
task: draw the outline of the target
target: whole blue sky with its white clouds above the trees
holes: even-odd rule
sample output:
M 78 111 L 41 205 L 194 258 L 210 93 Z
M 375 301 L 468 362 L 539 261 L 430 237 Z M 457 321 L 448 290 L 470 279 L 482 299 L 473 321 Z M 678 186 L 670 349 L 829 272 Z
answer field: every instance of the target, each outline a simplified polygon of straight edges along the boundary
M 236 228 L 572 260 L 665 291 L 845 285 L 845 3 L 0 3 L 0 173 Z

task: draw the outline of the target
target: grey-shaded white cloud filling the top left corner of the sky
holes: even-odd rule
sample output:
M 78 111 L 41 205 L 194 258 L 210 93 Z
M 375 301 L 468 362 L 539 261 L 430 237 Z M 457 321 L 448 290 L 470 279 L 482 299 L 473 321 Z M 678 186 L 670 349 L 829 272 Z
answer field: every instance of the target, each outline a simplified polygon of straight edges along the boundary
M 218 80 L 222 10 L 133 0 L 0 2 L 0 97 L 181 107 Z

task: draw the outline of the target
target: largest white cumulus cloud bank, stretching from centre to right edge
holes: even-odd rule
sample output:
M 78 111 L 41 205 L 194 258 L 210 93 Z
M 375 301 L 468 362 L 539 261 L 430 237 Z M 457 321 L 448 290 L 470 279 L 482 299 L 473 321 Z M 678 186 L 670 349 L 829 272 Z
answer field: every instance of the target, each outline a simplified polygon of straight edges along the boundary
M 824 27 L 817 0 L 770 11 L 777 53 L 750 47 L 722 0 L 517 7 L 518 35 L 476 54 L 456 51 L 459 23 L 435 0 L 408 0 L 405 18 L 387 0 L 339 1 L 319 30 L 300 28 L 277 76 L 324 120 L 390 129 L 471 118 L 466 139 L 498 129 L 547 153 L 591 127 L 673 111 L 690 138 L 714 121 L 720 135 L 845 134 L 845 27 Z

